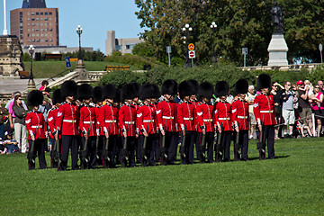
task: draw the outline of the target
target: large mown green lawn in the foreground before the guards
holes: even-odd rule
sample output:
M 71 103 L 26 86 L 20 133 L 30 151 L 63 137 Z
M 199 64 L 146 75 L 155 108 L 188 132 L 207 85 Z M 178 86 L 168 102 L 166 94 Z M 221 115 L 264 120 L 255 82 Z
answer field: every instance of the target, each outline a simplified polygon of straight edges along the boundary
M 324 214 L 324 139 L 276 141 L 277 158 L 265 161 L 252 140 L 248 153 L 247 162 L 67 172 L 28 171 L 26 155 L 3 155 L 0 214 Z

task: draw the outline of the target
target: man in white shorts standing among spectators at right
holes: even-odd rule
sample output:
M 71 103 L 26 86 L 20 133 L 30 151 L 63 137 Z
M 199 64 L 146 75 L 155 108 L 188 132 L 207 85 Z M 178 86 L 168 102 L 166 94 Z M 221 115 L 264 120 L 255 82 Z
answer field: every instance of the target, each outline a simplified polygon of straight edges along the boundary
M 295 121 L 293 102 L 296 101 L 296 94 L 291 90 L 291 82 L 284 83 L 284 93 L 281 95 L 281 102 L 283 106 L 284 124 L 289 127 L 289 134 L 287 134 L 287 127 L 284 127 L 284 137 L 293 137 L 293 125 Z

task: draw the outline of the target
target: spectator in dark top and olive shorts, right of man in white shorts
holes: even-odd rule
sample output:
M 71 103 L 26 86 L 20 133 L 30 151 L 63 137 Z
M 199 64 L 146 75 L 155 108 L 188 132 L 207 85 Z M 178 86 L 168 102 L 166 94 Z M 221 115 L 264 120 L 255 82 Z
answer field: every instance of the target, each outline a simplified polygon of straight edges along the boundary
M 310 88 L 305 87 L 302 80 L 297 82 L 297 97 L 298 97 L 298 112 L 300 114 L 301 121 L 304 121 L 305 124 L 308 124 L 310 129 L 311 125 L 311 104 L 309 103 L 309 92 Z

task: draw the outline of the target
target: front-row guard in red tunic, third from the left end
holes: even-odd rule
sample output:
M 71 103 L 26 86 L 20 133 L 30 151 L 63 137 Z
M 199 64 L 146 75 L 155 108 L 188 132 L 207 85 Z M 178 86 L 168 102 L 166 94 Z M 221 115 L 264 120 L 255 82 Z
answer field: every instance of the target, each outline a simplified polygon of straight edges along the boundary
M 93 103 L 91 103 L 94 94 L 94 89 L 89 84 L 82 84 L 77 88 L 77 97 L 83 103 L 80 108 L 79 127 L 81 130 L 81 151 L 85 150 L 90 160 L 84 164 L 85 168 L 94 169 L 96 166 L 95 157 L 95 141 L 96 141 L 96 113 Z M 85 140 L 87 139 L 87 146 L 85 148 Z M 86 162 L 85 162 L 86 163 Z

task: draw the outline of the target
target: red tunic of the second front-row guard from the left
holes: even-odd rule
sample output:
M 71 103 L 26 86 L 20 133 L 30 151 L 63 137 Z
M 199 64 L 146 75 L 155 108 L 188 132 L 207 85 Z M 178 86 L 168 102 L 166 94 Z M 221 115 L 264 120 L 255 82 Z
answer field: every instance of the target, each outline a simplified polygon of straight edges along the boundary
M 75 103 L 64 102 L 58 107 L 57 127 L 62 135 L 79 135 L 78 120 Z

